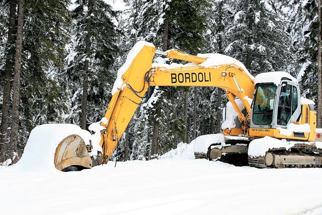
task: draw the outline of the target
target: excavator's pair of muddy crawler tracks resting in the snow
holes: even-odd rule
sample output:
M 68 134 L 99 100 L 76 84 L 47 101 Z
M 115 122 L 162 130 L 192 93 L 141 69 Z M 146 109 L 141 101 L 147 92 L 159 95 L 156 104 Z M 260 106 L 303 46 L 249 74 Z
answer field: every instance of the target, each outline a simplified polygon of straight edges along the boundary
M 284 147 L 269 149 L 265 156 L 249 156 L 249 141 L 230 141 L 224 145 L 212 144 L 207 154 L 196 153 L 195 158 L 221 161 L 235 166 L 256 168 L 320 168 L 322 167 L 322 149 L 308 144 L 294 144 L 286 150 Z

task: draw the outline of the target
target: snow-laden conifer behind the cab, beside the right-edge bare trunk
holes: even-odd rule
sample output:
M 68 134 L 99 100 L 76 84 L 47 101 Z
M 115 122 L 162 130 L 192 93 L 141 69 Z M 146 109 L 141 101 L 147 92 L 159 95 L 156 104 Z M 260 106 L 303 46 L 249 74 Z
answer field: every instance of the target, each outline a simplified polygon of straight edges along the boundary
M 285 9 L 293 36 L 292 71 L 300 81 L 301 94 L 317 102 L 317 5 L 316 1 L 289 1 Z

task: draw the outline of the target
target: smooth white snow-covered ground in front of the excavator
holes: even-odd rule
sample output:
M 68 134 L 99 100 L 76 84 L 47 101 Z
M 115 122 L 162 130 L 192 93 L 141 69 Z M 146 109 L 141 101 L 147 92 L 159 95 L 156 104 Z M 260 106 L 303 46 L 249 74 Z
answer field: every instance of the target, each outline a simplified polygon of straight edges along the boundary
M 322 169 L 195 160 L 193 145 L 81 172 L 2 167 L 1 214 L 322 214 Z

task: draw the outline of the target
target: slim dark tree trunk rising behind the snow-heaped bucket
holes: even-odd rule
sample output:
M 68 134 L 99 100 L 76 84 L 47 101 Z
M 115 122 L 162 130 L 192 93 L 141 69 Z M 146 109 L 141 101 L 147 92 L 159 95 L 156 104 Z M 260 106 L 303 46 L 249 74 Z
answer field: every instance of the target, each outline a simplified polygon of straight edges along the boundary
M 85 43 L 85 65 L 84 65 L 84 76 L 83 76 L 83 98 L 82 98 L 82 129 L 86 129 L 86 121 L 87 121 L 87 96 L 88 96 L 88 85 L 89 85 L 89 60 L 88 57 L 90 55 L 90 46 L 91 46 L 91 13 L 93 8 L 92 0 L 89 0 L 88 5 L 88 13 L 87 13 L 87 36 L 86 36 L 86 43 Z

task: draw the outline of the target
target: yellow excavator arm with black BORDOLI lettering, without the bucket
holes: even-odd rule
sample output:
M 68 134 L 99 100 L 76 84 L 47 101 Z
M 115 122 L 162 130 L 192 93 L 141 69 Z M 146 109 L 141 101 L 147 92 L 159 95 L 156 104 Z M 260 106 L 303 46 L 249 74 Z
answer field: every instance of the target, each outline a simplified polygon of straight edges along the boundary
M 167 68 L 164 66 L 152 67 L 154 54 L 163 54 L 168 58 L 175 58 L 194 62 L 195 65 Z M 220 58 L 224 55 L 217 55 Z M 226 90 L 228 100 L 238 113 L 238 119 L 246 134 L 249 128 L 250 116 L 245 116 L 239 110 L 233 95 L 238 97 L 250 113 L 248 98 L 254 94 L 254 77 L 246 68 L 236 63 L 233 59 L 211 64 L 211 57 L 200 57 L 185 54 L 178 50 L 168 52 L 156 51 L 151 43 L 137 43 L 126 60 L 123 74 L 119 74 L 122 81 L 117 91 L 113 94 L 110 105 L 105 113 L 107 122 L 102 122 L 100 145 L 103 149 L 102 162 L 107 163 L 114 152 L 118 140 L 121 138 L 126 126 L 130 122 L 135 110 L 140 104 L 149 86 L 204 86 L 218 87 Z M 229 58 L 230 59 L 230 58 Z M 218 59 L 215 59 L 218 61 Z M 229 60 L 228 60 L 229 61 Z M 239 62 L 239 61 L 238 61 Z M 204 64 L 204 65 L 203 65 Z

